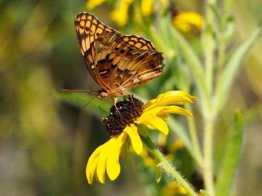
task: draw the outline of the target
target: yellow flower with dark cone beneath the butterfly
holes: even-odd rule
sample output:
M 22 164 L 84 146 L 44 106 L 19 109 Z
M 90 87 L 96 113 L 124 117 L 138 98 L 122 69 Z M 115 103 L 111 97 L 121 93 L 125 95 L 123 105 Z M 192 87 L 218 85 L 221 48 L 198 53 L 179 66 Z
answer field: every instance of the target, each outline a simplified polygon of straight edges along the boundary
M 167 135 L 166 115 L 176 113 L 192 116 L 189 111 L 176 105 L 192 103 L 194 99 L 197 97 L 183 91 L 168 91 L 145 105 L 135 97 L 131 97 L 129 101 L 118 102 L 117 109 L 112 106 L 111 114 L 102 119 L 111 139 L 100 145 L 90 156 L 86 165 L 88 183 L 92 184 L 94 176 L 99 182 L 104 183 L 105 170 L 110 180 L 118 177 L 120 174 L 119 156 L 127 138 L 130 139 L 137 154 L 142 152 L 143 143 L 136 125 L 146 125 Z

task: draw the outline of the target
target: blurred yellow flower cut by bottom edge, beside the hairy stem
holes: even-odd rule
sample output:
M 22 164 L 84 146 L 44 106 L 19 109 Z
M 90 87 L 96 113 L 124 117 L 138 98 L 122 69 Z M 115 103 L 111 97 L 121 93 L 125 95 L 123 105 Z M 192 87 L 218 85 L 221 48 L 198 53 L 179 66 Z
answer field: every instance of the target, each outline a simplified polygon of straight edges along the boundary
M 177 182 L 171 182 L 163 187 L 161 196 L 186 195 L 187 191 Z

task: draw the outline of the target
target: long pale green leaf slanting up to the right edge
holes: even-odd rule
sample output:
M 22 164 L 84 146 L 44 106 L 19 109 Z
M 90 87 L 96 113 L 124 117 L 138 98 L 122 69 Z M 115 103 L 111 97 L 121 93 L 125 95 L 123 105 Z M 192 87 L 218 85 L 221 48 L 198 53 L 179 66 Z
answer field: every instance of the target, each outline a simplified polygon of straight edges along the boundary
M 229 90 L 232 86 L 238 68 L 241 66 L 244 57 L 248 54 L 250 48 L 257 42 L 261 34 L 262 28 L 259 26 L 248 38 L 248 40 L 246 40 L 237 48 L 237 50 L 235 50 L 232 57 L 229 59 L 225 69 L 217 81 L 215 89 L 214 112 L 219 113 L 223 109 L 228 99 Z

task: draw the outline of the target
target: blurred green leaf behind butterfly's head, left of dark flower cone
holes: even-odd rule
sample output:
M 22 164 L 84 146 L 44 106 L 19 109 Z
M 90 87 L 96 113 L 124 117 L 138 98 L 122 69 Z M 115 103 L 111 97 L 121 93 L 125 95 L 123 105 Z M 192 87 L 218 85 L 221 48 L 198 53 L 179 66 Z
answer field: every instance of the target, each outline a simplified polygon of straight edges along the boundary
M 99 105 L 106 112 L 109 111 L 109 108 L 114 104 L 110 100 L 102 100 L 100 103 L 100 99 L 94 97 L 94 95 L 89 95 L 82 92 L 56 92 L 55 95 L 58 99 L 68 102 L 76 107 L 82 108 L 85 104 L 87 104 L 92 97 L 94 98 L 84 109 L 86 112 L 90 112 L 98 117 L 107 116 L 107 114 L 99 109 Z

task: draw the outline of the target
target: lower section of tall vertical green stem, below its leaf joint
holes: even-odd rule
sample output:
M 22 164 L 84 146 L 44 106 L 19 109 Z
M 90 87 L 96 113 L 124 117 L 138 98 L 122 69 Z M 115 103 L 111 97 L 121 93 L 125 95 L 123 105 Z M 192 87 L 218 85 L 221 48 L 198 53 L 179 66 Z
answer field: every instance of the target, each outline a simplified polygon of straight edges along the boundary
M 204 128 L 204 168 L 203 177 L 205 189 L 207 192 L 214 196 L 214 180 L 213 180 L 213 132 L 214 132 L 214 117 L 210 115 L 205 119 Z

